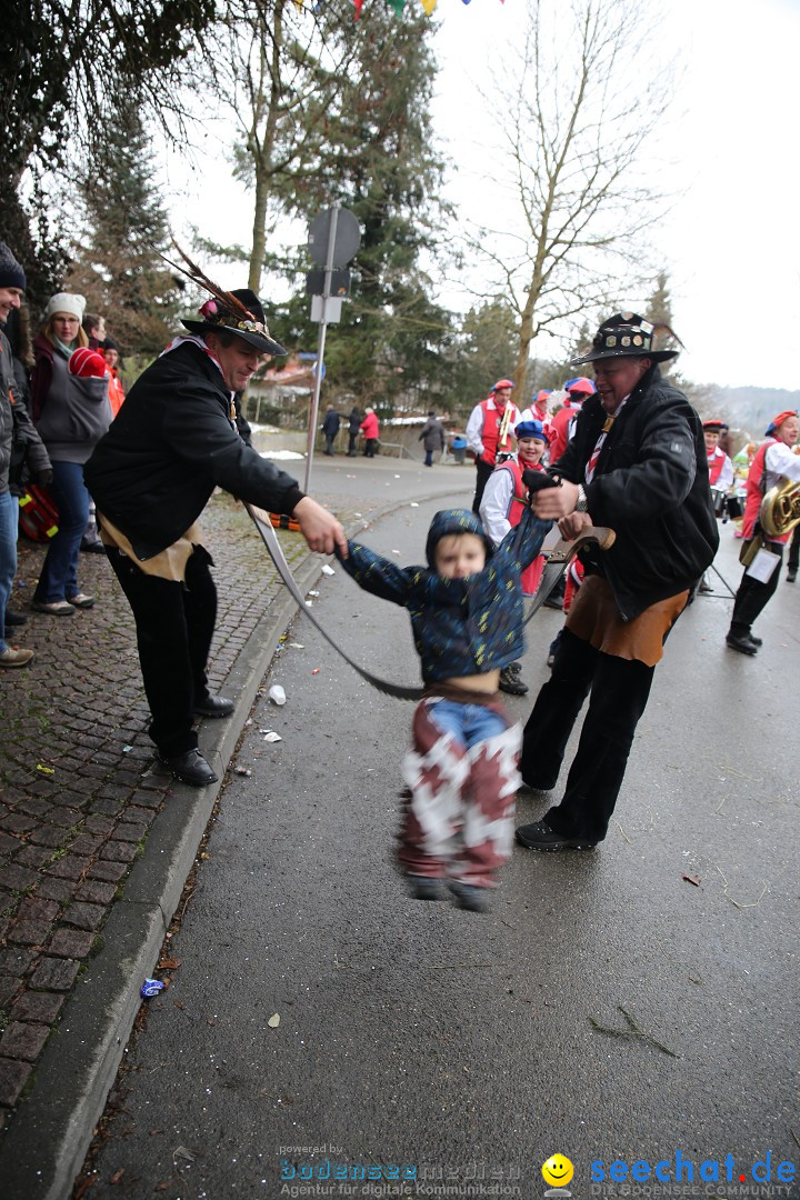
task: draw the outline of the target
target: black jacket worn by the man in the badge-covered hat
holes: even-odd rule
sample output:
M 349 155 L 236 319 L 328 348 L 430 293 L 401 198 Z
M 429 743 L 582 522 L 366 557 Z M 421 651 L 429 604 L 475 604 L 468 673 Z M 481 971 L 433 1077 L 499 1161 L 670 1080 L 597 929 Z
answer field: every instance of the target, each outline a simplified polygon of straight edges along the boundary
M 606 421 L 599 396 L 583 404 L 558 473 L 583 484 L 596 526 L 616 534 L 587 566 L 608 580 L 624 620 L 693 587 L 720 544 L 700 419 L 652 366 L 614 421 L 590 484 L 585 467 Z

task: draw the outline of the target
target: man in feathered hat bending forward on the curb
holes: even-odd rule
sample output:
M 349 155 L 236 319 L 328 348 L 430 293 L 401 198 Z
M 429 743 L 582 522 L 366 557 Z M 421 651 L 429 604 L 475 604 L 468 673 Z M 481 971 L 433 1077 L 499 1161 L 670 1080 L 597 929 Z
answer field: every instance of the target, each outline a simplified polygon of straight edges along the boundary
M 139 377 L 84 470 L 136 618 L 150 737 L 176 779 L 201 787 L 217 776 L 198 750 L 194 715 L 234 709 L 210 694 L 205 673 L 216 589 L 197 521 L 213 488 L 295 517 L 312 550 L 347 554 L 347 541 L 333 515 L 236 431 L 235 394 L 264 355 L 287 353 L 258 298 L 222 292 L 193 270 L 215 299 Z

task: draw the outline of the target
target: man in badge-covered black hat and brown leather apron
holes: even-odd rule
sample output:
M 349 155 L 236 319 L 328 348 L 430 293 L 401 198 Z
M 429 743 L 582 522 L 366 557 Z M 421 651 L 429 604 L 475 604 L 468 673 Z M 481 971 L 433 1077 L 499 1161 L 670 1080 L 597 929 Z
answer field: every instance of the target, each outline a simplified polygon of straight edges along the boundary
M 606 836 L 664 638 L 718 545 L 700 420 L 662 379 L 658 364 L 678 352 L 655 349 L 654 334 L 636 313 L 616 313 L 573 362 L 594 364 L 597 394 L 551 468 L 561 486 L 534 500 L 563 536 L 596 524 L 616 539 L 582 554 L 584 582 L 525 726 L 522 776 L 549 791 L 591 692 L 561 802 L 517 829 L 530 850 L 590 850 Z

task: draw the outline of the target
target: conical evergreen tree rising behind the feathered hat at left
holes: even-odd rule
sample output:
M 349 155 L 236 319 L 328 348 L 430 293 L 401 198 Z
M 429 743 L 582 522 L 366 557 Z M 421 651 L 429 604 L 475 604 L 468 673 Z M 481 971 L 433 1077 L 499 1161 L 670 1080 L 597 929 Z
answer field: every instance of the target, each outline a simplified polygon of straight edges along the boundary
M 154 154 L 138 113 L 122 107 L 107 124 L 103 154 L 79 181 L 85 233 L 67 286 L 86 296 L 122 353 L 148 358 L 169 341 L 179 284 L 158 252 L 167 215 L 152 184 Z

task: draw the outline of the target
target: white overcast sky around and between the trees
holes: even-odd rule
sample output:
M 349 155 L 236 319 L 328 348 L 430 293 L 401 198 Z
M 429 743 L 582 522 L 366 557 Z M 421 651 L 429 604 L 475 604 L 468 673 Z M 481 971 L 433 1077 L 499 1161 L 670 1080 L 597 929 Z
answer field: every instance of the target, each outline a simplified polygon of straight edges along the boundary
M 697 383 L 795 389 L 800 0 L 664 0 L 654 11 L 664 58 L 680 61 L 661 157 L 649 169 L 654 186 L 673 194 L 656 236 L 687 348 L 681 371 Z M 439 0 L 435 12 L 443 70 L 433 115 L 458 167 L 452 197 L 476 221 L 492 190 L 492 133 L 479 88 L 491 90 L 503 72 L 524 16 L 525 0 Z M 231 214 L 249 229 L 249 202 L 227 181 L 218 157 L 193 186 L 197 199 L 182 197 L 181 208 L 200 233 L 234 240 Z M 216 221 L 210 188 L 224 197 L 224 217 Z

